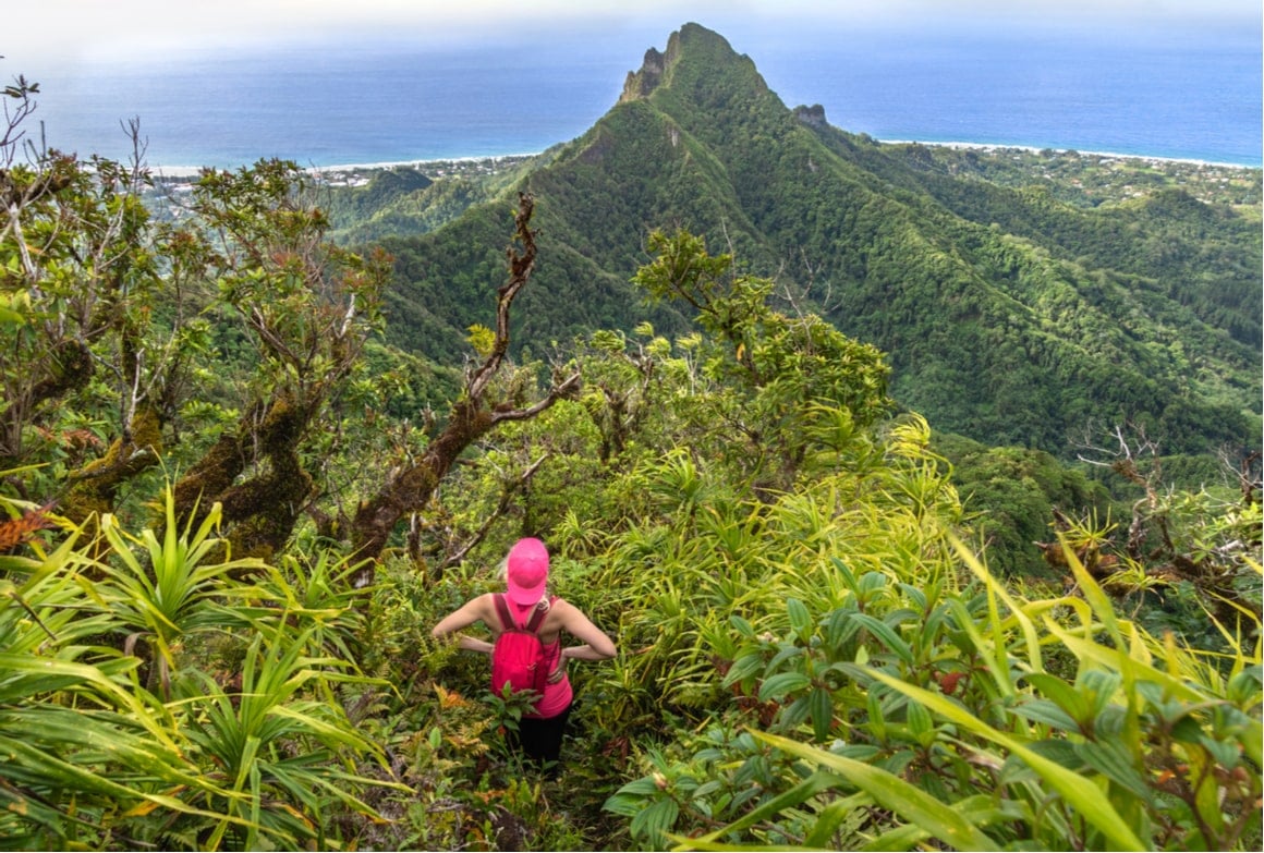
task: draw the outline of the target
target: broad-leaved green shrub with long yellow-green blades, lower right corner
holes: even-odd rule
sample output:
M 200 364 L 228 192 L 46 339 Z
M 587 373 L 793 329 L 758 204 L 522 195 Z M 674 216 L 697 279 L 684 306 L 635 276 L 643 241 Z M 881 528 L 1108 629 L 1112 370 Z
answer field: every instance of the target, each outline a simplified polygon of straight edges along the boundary
M 1079 594 L 1043 600 L 959 555 L 963 594 L 862 598 L 890 586 L 868 572 L 841 608 L 787 600 L 780 634 L 734 620 L 748 733 L 650 754 L 607 808 L 648 847 L 1254 849 L 1258 644 L 1155 638 L 1073 555 Z

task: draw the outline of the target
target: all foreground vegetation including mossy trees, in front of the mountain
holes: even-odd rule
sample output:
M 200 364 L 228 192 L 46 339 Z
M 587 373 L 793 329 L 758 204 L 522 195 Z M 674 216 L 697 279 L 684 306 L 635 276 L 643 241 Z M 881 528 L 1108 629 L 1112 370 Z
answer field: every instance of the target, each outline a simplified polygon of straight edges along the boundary
M 693 331 L 509 359 L 507 286 L 444 369 L 382 342 L 386 267 L 292 164 L 159 225 L 142 169 L 23 164 L 15 126 L 0 847 L 1259 849 L 1250 463 L 1162 489 L 1119 426 L 1130 522 L 1049 507 L 1058 570 L 992 569 L 1006 522 L 882 353 L 703 238 L 633 279 Z M 507 259 L 526 286 L 533 244 Z M 573 671 L 556 777 L 430 636 L 521 535 L 619 648 Z

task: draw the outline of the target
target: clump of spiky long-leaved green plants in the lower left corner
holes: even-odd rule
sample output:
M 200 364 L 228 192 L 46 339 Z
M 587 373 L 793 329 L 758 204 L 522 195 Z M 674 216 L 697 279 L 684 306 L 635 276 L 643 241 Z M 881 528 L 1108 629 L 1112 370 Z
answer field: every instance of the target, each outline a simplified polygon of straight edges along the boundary
M 263 566 L 210 557 L 219 518 L 162 542 L 110 516 L 99 541 L 61 521 L 56 550 L 28 538 L 33 556 L 3 557 L 8 847 L 297 847 L 331 814 L 373 814 L 356 792 L 380 782 L 348 767 L 384 754 L 339 699 L 369 680 L 316 642 L 329 613 L 284 607 L 284 574 L 235 579 Z

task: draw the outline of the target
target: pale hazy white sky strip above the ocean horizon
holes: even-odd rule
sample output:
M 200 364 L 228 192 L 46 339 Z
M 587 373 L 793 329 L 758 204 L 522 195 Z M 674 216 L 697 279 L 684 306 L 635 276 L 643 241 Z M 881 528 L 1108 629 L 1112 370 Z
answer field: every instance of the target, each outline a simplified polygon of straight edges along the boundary
M 512 44 L 568 29 L 661 45 L 686 21 L 724 34 L 795 27 L 1053 27 L 1259 35 L 1259 0 L 14 0 L 0 13 L 0 75 L 182 52 L 331 40 Z M 780 28 L 780 29 L 779 29 Z M 1226 29 L 1227 28 L 1227 29 Z M 736 47 L 739 47 L 736 44 Z

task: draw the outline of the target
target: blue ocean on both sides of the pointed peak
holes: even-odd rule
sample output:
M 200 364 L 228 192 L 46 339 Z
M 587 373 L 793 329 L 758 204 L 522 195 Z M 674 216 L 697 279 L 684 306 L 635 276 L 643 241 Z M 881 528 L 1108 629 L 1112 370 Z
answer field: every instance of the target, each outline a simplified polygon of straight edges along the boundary
M 786 106 L 820 104 L 830 124 L 876 139 L 1261 166 L 1259 33 L 724 34 Z M 114 158 L 130 150 L 120 125 L 139 118 L 150 166 L 526 154 L 592 126 L 645 49 L 665 45 L 666 33 L 555 34 L 517 45 L 162 56 L 49 70 L 37 116 L 48 145 Z

